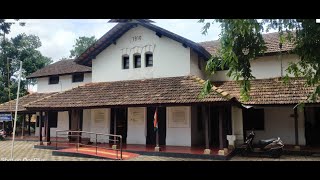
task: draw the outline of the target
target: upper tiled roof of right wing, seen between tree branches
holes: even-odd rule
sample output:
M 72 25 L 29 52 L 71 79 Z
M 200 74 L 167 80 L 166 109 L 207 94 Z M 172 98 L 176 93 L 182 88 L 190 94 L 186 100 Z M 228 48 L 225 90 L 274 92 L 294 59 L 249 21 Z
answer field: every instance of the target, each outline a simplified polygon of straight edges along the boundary
M 265 53 L 275 53 L 275 52 L 280 52 L 279 48 L 279 33 L 268 33 L 268 34 L 263 34 L 262 35 L 266 46 L 267 46 L 267 51 Z M 200 45 L 204 47 L 211 55 L 217 54 L 218 49 L 220 48 L 220 43 L 219 40 L 215 41 L 205 41 L 205 42 L 200 42 Z M 282 51 L 290 51 L 294 48 L 293 43 L 284 43 L 282 45 Z

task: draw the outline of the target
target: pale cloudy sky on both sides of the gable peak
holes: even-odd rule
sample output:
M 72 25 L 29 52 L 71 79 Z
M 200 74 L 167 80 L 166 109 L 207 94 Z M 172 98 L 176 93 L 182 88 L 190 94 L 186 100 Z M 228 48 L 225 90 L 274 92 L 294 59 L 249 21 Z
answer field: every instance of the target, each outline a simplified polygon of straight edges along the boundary
M 219 24 L 214 23 L 207 35 L 201 34 L 204 24 L 198 23 L 198 19 L 151 20 L 155 21 L 155 25 L 194 42 L 216 40 L 220 33 Z M 39 50 L 44 56 L 51 57 L 54 62 L 69 57 L 70 50 L 78 37 L 95 36 L 99 39 L 116 25 L 108 23 L 109 19 L 20 19 L 19 21 L 25 22 L 26 25 L 14 24 L 8 37 L 15 37 L 20 33 L 37 35 L 42 43 Z

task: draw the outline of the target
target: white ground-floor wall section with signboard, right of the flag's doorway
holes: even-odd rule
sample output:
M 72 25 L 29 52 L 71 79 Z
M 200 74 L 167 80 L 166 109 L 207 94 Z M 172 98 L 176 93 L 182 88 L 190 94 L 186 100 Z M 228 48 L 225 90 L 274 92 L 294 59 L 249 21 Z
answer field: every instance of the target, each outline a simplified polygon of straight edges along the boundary
M 166 145 L 191 146 L 191 107 L 167 107 Z

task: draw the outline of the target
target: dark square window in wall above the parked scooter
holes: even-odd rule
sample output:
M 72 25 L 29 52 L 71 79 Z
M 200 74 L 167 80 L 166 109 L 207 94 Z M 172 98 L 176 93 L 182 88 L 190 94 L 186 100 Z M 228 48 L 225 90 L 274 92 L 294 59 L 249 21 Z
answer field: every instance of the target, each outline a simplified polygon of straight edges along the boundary
M 264 109 L 244 109 L 243 126 L 245 130 L 264 130 Z

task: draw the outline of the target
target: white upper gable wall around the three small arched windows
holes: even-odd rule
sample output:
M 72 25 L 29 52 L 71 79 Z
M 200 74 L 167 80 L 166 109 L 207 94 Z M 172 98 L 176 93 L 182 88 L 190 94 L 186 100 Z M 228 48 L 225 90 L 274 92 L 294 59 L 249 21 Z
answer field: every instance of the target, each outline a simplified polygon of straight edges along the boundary
M 141 40 L 133 41 L 133 37 Z M 153 67 L 145 67 L 145 52 L 153 52 Z M 141 68 L 133 68 L 133 55 L 141 54 Z M 130 68 L 122 69 L 122 56 L 128 54 Z M 130 29 L 116 44 L 110 45 L 92 60 L 92 81 L 119 81 L 190 74 L 190 48 L 170 38 L 159 38 L 142 26 Z

